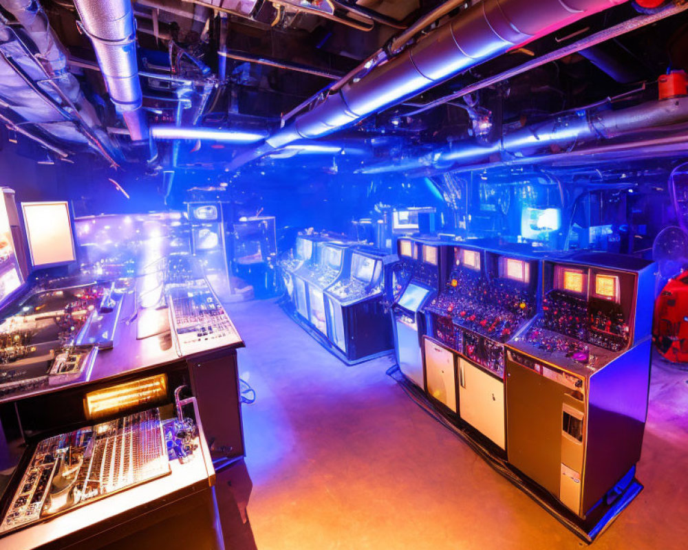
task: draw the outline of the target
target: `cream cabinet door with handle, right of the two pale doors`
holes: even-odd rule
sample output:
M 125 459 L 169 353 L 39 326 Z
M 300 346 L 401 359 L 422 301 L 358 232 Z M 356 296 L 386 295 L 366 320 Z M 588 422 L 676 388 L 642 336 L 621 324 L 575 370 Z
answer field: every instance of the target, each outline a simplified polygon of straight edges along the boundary
M 484 436 L 506 448 L 504 382 L 459 358 L 459 414 Z

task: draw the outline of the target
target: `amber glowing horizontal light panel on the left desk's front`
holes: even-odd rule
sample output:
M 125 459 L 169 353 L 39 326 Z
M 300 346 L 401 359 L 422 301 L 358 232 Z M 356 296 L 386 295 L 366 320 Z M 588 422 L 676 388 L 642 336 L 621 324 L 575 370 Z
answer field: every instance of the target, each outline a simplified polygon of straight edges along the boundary
M 167 377 L 149 376 L 92 391 L 84 397 L 87 419 L 100 419 L 142 405 L 155 405 L 167 397 Z

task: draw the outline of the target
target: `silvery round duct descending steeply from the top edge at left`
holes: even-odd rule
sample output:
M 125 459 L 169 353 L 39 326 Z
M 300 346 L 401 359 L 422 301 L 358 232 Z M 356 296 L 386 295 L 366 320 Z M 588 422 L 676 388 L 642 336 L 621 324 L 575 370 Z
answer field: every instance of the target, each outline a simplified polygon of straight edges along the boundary
M 111 101 L 133 141 L 149 139 L 136 61 L 136 23 L 129 0 L 74 0 L 93 43 Z

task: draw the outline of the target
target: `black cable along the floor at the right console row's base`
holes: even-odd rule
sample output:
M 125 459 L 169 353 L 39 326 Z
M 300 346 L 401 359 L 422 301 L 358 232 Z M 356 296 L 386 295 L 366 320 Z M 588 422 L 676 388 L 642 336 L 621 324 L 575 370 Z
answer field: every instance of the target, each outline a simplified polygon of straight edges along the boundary
M 588 533 L 579 527 L 576 523 L 572 522 L 565 516 L 562 516 L 561 511 L 557 510 L 555 507 L 552 507 L 549 505 L 546 500 L 543 500 L 539 494 L 534 492 L 524 481 L 522 478 L 517 476 L 508 466 L 506 466 L 505 461 L 502 459 L 499 459 L 497 456 L 494 456 L 486 447 L 475 441 L 469 434 L 467 434 L 464 430 L 459 428 L 458 426 L 455 426 L 455 424 L 451 423 L 449 419 L 444 417 L 436 408 L 433 407 L 430 401 L 428 401 L 427 397 L 423 393 L 421 393 L 420 389 L 416 388 L 413 384 L 408 382 L 405 378 L 405 376 L 402 374 L 401 370 L 399 369 L 398 365 L 391 366 L 389 369 L 387 369 L 386 374 L 391 377 L 393 380 L 395 380 L 399 386 L 401 386 L 402 390 L 406 395 L 408 395 L 411 400 L 416 403 L 424 412 L 427 413 L 430 417 L 433 419 L 436 419 L 438 422 L 440 422 L 443 426 L 449 428 L 451 432 L 458 436 L 461 441 L 466 443 L 466 445 L 469 445 L 471 449 L 473 449 L 477 454 L 479 454 L 482 459 L 490 466 L 492 467 L 495 472 L 501 474 L 505 478 L 507 478 L 511 483 L 514 485 L 517 485 L 522 491 L 524 491 L 530 498 L 533 498 L 536 503 L 538 503 L 541 507 L 546 509 L 547 511 L 552 514 L 564 527 L 575 533 L 577 536 L 585 540 L 585 542 L 592 542 L 590 538 L 588 537 Z

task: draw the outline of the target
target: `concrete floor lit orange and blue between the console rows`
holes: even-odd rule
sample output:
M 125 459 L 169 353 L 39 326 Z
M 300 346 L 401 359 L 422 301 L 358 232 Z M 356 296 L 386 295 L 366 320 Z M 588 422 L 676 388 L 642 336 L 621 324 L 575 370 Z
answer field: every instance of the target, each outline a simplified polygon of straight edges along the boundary
M 405 395 L 382 358 L 347 367 L 273 301 L 233 305 L 259 550 L 585 547 Z M 594 549 L 688 540 L 688 373 L 657 364 L 638 479 Z

